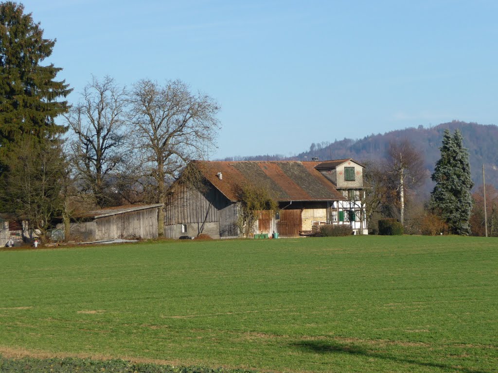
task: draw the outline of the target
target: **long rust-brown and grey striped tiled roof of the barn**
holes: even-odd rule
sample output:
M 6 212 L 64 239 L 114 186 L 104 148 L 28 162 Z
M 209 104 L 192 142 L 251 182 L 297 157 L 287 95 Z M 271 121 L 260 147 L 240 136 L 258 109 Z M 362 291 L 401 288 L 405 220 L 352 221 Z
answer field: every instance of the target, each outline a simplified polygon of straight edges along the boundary
M 236 201 L 235 189 L 243 183 L 268 186 L 278 201 L 343 200 L 315 167 L 320 162 L 301 161 L 195 161 L 203 176 L 228 199 Z M 218 173 L 223 174 L 220 180 Z

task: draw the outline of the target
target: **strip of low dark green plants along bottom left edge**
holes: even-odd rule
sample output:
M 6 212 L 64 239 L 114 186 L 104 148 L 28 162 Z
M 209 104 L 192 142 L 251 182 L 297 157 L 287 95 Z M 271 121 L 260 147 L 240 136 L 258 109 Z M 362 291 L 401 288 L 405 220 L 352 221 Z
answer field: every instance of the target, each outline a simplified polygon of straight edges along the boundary
M 173 367 L 157 364 L 131 363 L 124 360 L 92 359 L 10 359 L 0 356 L 2 373 L 254 373 L 241 369 Z

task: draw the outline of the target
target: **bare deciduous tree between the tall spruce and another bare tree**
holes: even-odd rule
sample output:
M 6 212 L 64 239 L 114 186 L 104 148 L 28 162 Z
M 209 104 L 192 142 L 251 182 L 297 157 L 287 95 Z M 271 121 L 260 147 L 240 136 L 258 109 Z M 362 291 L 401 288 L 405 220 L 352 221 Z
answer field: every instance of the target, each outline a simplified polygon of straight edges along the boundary
M 114 79 L 95 77 L 82 93 L 82 101 L 65 115 L 75 134 L 72 142 L 76 170 L 99 206 L 106 204 L 106 187 L 111 175 L 129 152 L 125 126 L 126 92 Z

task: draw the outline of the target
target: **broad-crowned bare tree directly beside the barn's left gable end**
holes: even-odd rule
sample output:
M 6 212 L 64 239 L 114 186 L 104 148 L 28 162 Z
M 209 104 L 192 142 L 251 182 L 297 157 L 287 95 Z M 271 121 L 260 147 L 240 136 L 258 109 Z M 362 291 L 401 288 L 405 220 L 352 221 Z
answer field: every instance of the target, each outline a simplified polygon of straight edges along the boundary
M 210 96 L 191 93 L 181 81 L 164 86 L 141 80 L 130 95 L 129 121 L 133 139 L 144 157 L 144 177 L 157 183 L 157 202 L 166 199 L 165 179 L 177 179 L 188 162 L 204 159 L 215 145 L 220 129 L 219 104 Z M 164 211 L 158 216 L 159 235 L 163 234 Z

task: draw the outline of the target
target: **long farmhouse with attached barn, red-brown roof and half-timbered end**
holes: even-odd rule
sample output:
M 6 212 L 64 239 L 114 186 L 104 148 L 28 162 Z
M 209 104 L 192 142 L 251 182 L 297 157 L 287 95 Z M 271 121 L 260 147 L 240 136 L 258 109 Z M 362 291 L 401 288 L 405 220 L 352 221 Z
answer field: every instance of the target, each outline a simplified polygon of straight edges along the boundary
M 281 237 L 309 235 L 321 224 L 350 224 L 368 233 L 364 206 L 364 166 L 353 159 L 326 162 L 194 161 L 202 188 L 177 182 L 165 203 L 164 234 L 169 238 L 239 237 L 237 186 L 264 185 L 278 202 L 276 215 L 262 211 L 254 233 Z M 363 218 L 363 223 L 360 219 Z

